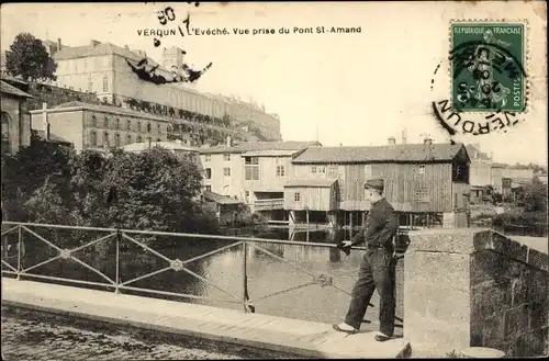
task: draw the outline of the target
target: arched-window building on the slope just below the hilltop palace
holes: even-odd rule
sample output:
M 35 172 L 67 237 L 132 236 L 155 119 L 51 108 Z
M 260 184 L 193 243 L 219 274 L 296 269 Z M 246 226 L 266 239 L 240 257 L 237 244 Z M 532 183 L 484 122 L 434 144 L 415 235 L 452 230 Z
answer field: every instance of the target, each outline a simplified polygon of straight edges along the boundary
M 168 139 L 167 120 L 109 105 L 69 102 L 31 111 L 31 121 L 33 129 L 49 129 L 49 134 L 74 144 L 76 151 Z

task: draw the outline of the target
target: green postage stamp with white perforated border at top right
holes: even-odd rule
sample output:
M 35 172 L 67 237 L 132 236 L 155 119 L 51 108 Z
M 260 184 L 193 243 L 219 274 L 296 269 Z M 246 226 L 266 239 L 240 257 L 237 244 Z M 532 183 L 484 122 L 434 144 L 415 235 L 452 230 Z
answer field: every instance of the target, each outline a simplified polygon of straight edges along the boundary
M 451 102 L 456 112 L 525 112 L 526 24 L 450 25 Z

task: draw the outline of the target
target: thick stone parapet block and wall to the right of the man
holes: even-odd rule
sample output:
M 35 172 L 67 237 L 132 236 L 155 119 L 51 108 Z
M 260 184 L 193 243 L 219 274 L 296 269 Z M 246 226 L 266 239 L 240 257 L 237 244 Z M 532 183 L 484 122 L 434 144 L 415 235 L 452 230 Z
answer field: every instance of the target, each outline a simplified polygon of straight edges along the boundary
M 491 229 L 410 234 L 404 337 L 444 356 L 490 347 L 509 357 L 549 354 L 548 255 Z

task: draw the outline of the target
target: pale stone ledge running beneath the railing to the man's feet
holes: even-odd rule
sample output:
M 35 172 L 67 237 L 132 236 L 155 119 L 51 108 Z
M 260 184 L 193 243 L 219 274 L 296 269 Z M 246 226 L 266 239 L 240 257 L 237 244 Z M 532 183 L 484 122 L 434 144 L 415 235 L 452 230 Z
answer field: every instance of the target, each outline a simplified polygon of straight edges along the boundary
M 2 278 L 8 305 L 314 358 L 408 357 L 404 339 L 348 336 L 332 325 Z

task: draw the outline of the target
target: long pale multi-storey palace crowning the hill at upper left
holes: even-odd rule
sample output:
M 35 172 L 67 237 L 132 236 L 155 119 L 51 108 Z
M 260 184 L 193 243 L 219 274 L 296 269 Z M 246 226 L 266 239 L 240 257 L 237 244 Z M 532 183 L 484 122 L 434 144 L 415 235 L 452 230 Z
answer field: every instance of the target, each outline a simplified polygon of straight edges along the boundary
M 148 58 L 145 52 L 131 50 L 110 43 L 90 41 L 88 45 L 66 46 L 44 42 L 57 63 L 57 83 L 75 90 L 94 92 L 99 99 L 126 105 L 135 100 L 146 101 L 153 106 L 173 108 L 177 113 L 184 110 L 210 121 L 228 116 L 234 126 L 254 128 L 268 140 L 280 140 L 280 120 L 268 114 L 255 103 L 243 102 L 223 95 L 201 93 L 178 83 L 156 86 L 141 80 L 127 60 L 136 64 L 147 58 L 150 67 L 158 65 L 156 72 L 171 76 L 171 66 L 181 68 L 183 53 L 179 48 L 165 48 L 160 64 Z

